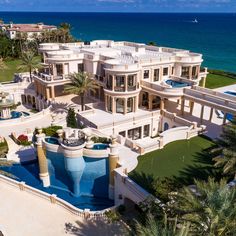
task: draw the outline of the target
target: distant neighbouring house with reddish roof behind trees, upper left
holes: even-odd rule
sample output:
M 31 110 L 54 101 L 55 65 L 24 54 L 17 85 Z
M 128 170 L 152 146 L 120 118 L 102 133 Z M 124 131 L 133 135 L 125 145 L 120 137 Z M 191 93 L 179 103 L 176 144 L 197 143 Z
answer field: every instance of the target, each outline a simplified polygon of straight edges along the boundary
M 56 30 L 54 25 L 38 24 L 0 24 L 0 30 L 6 33 L 10 39 L 15 39 L 18 34 L 27 35 L 28 40 L 32 40 L 34 36 L 40 36 L 42 32 Z

